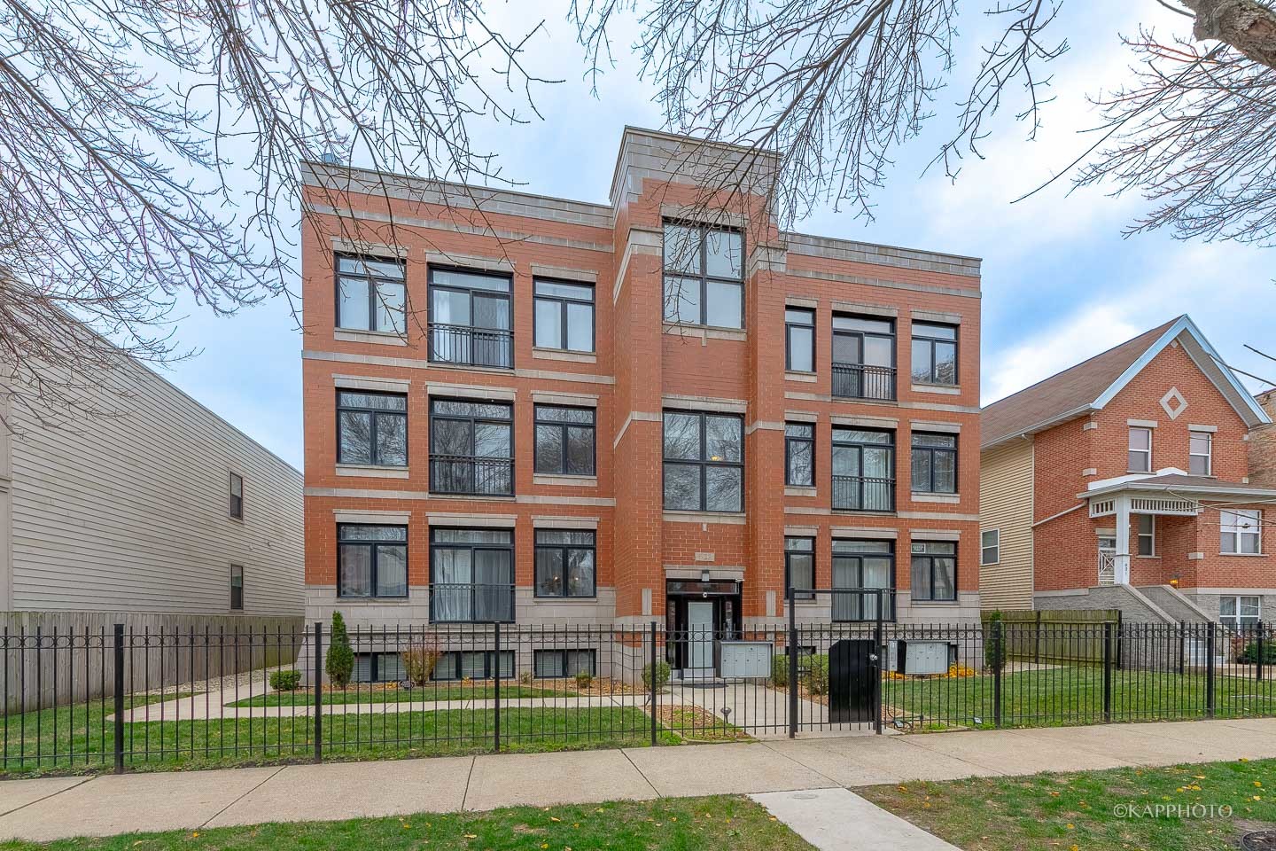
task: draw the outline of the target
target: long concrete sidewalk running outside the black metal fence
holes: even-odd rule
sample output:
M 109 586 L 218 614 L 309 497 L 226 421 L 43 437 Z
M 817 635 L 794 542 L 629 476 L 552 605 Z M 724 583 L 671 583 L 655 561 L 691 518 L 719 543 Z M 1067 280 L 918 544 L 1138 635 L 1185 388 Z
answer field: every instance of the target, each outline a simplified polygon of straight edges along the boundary
M 762 795 L 1242 757 L 1276 758 L 1276 718 L 14 780 L 0 782 L 0 840 L 50 841 L 522 804 Z M 803 800 L 808 799 L 794 799 Z M 800 833 L 815 831 L 809 824 L 792 827 Z M 902 831 L 892 819 L 874 815 L 857 819 L 854 832 L 841 832 L 841 843 L 810 841 L 817 847 L 847 851 L 947 848 L 943 843 L 903 845 L 909 837 L 914 842 L 926 838 Z

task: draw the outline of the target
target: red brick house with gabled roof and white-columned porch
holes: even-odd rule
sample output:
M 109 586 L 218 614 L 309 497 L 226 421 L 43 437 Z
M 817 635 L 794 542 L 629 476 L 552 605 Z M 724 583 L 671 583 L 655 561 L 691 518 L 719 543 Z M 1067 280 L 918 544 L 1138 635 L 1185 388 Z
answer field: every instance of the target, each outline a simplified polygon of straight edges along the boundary
M 1250 623 L 1276 606 L 1271 422 L 1188 316 L 984 408 L 985 609 Z M 1262 612 L 1262 614 L 1259 614 Z

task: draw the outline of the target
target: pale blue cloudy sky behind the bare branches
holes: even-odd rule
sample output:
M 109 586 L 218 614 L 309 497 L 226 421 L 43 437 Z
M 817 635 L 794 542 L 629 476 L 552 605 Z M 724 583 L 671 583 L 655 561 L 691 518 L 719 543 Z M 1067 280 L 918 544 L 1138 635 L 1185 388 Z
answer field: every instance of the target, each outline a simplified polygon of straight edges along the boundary
M 530 29 L 546 18 L 527 46 L 528 59 L 542 77 L 564 82 L 537 91 L 541 119 L 518 126 L 480 121 L 475 135 L 527 191 L 606 203 L 624 125 L 662 125 L 655 87 L 624 50 L 633 29 L 620 29 L 616 68 L 591 94 L 574 32 L 554 17 L 558 6 L 487 4 L 508 29 Z M 1188 34 L 1191 26 L 1155 0 L 1073 3 L 1057 23 L 1071 36 L 1071 50 L 1050 65 L 1055 100 L 1035 140 L 1025 125 L 1003 120 L 983 145 L 985 158 L 968 158 L 951 181 L 942 170 L 926 170 L 944 140 L 940 117 L 897 152 L 874 198 L 873 221 L 824 205 L 796 230 L 983 258 L 985 404 L 1184 313 L 1229 364 L 1276 380 L 1276 361 L 1244 348 L 1276 352 L 1276 249 L 1183 242 L 1168 232 L 1125 239 L 1123 227 L 1147 205 L 1136 195 L 1113 198 L 1110 188 L 1069 194 L 1064 180 L 1012 203 L 1088 144 L 1082 131 L 1097 125 L 1099 115 L 1087 96 L 1131 79 L 1122 33 L 1136 34 L 1142 23 L 1162 37 Z M 963 19 L 958 75 L 972 73 L 984 31 L 979 15 Z M 939 94 L 940 112 L 951 112 L 958 88 Z M 301 468 L 301 342 L 287 305 L 268 301 L 231 318 L 191 309 L 177 337 L 199 355 L 165 370 L 166 378 Z M 1270 387 L 1242 380 L 1254 390 Z

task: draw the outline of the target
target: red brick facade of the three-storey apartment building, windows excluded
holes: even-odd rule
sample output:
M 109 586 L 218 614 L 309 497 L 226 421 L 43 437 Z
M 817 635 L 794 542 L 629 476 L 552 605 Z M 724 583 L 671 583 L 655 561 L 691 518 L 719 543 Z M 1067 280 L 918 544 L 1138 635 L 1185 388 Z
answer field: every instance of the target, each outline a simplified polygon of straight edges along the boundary
M 396 189 L 387 198 L 375 190 L 347 190 L 341 182 L 348 180 L 346 170 L 328 170 L 328 177 L 310 180 L 302 283 L 311 616 L 336 607 L 347 618 L 353 612 L 356 620 L 426 620 L 431 524 L 513 527 L 519 623 L 661 619 L 666 582 L 698 581 L 702 572 L 709 572 L 713 581 L 740 582 L 738 605 L 745 623 L 778 620 L 785 616 L 786 529 L 815 537 L 819 587 L 831 583 L 835 535 L 891 538 L 901 618 L 948 621 L 974 616 L 979 588 L 977 262 L 781 233 L 771 217 L 750 214 L 736 200 L 717 218 L 744 233 L 744 329 L 671 325 L 662 322 L 662 225 L 674 216 L 683 218 L 701 190 L 681 176 L 661 175 L 653 163 L 660 151 L 666 152 L 667 162 L 669 151 L 684 144 L 662 134 L 627 130 L 610 205 L 476 190 L 484 199 L 480 212 L 470 194 L 456 186 L 394 179 Z M 375 179 L 366 172 L 355 176 Z M 393 227 L 387 222 L 389 214 L 396 218 Z M 334 250 L 404 259 L 406 336 L 334 330 Z M 512 273 L 513 369 L 430 361 L 426 281 L 431 265 Z M 592 356 L 533 348 L 533 277 L 593 285 Z M 813 374 L 786 375 L 786 301 L 814 306 Z M 894 323 L 896 399 L 831 396 L 835 313 L 887 316 Z M 915 319 L 958 327 L 956 387 L 914 385 L 909 380 Z M 408 397 L 408 464 L 393 477 L 339 470 L 337 464 L 336 388 L 375 389 L 378 381 L 389 381 Z M 596 410 L 595 478 L 565 481 L 535 475 L 533 404 L 549 399 L 546 394 Z M 431 396 L 513 401 L 512 498 L 430 492 Z M 665 510 L 661 415 L 666 410 L 741 415 L 743 512 Z M 809 491 L 785 486 L 786 420 L 815 424 L 815 487 Z M 829 441 L 835 424 L 869 424 L 893 431 L 896 510 L 832 509 Z M 909 447 L 919 427 L 957 435 L 957 494 L 914 499 Z M 339 518 L 364 523 L 385 518 L 385 523 L 407 526 L 407 600 L 350 601 L 337 596 Z M 573 527 L 573 518 L 579 528 L 597 531 L 598 597 L 537 600 L 532 593 L 533 529 Z M 910 549 L 920 540 L 957 545 L 957 601 L 910 605 Z

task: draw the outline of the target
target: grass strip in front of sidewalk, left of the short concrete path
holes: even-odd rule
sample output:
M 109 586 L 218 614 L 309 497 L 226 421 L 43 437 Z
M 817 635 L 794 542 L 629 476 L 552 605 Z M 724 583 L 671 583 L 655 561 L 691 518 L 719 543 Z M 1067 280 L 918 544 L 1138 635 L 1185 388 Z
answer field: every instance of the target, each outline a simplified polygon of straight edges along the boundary
M 746 797 L 618 801 L 584 806 L 425 813 L 403 818 L 302 822 L 171 833 L 130 833 L 48 845 L 0 843 L 3 851 L 810 851 L 805 841 Z

